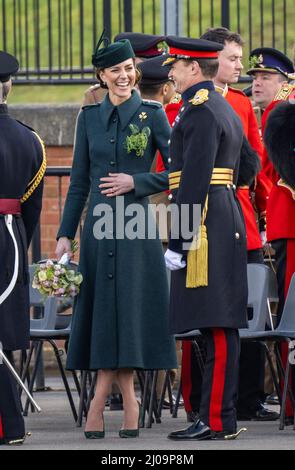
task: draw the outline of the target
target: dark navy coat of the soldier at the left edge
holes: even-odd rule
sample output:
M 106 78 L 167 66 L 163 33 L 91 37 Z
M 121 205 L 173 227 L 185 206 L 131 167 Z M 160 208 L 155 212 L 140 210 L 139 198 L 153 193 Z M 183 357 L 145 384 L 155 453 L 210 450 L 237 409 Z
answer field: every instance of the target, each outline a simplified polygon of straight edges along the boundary
M 0 105 L 0 199 L 18 199 L 38 172 L 43 149 L 31 129 L 8 114 Z M 21 207 L 21 216 L 14 216 L 13 230 L 18 244 L 20 264 L 16 286 L 0 305 L 0 341 L 5 350 L 28 347 L 29 342 L 29 277 L 27 248 L 38 222 L 42 205 L 41 183 Z M 0 214 L 0 295 L 9 285 L 14 271 L 14 246 Z

